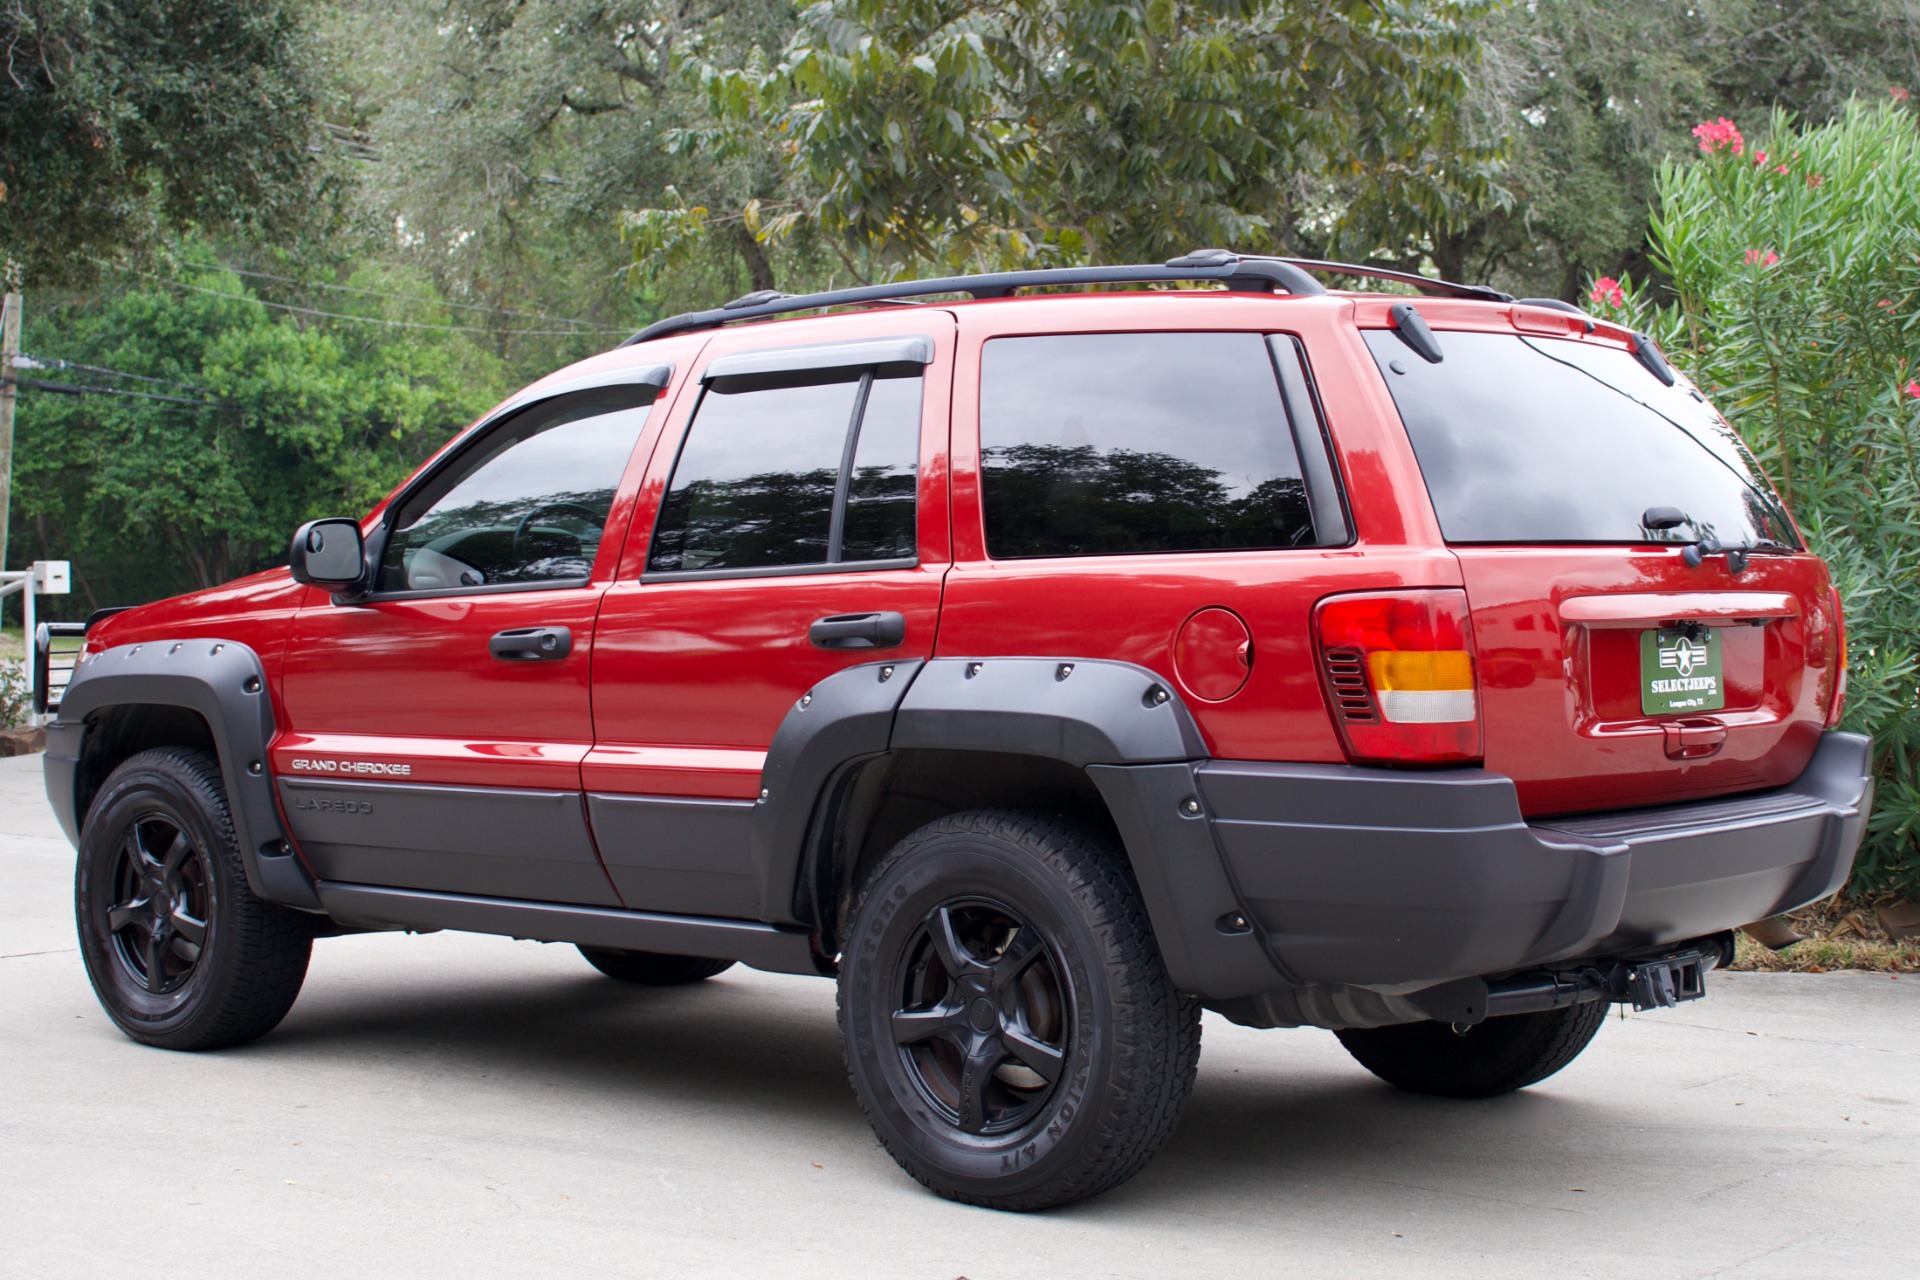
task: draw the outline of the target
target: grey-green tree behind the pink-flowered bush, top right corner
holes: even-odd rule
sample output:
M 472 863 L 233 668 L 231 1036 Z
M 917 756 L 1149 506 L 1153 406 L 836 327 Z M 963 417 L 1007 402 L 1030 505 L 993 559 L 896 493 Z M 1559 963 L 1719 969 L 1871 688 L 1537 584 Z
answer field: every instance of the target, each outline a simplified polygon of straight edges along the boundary
M 1697 121 L 1778 106 L 1824 123 L 1853 94 L 1920 88 L 1920 0 L 1534 0 L 1480 38 L 1473 132 L 1507 146 L 1511 203 L 1436 226 L 1430 253 L 1517 294 L 1645 278 L 1659 165 Z

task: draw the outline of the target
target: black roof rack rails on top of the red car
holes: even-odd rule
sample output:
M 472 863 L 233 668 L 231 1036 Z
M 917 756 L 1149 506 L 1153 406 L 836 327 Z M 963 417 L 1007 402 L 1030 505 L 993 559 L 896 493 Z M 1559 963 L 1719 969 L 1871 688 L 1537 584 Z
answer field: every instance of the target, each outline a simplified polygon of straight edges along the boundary
M 712 311 L 687 311 L 684 315 L 655 320 L 620 345 L 666 338 L 668 334 L 689 334 L 703 328 L 718 328 L 732 320 L 756 320 L 770 315 L 789 315 L 793 311 L 820 311 L 824 307 L 854 307 L 876 301 L 904 301 L 912 297 L 937 297 L 941 294 L 966 294 L 968 297 L 1012 297 L 1020 290 L 1092 286 L 1092 284 L 1171 284 L 1177 280 L 1217 280 L 1229 290 L 1261 294 L 1317 296 L 1327 288 L 1315 280 L 1311 271 L 1365 276 L 1377 280 L 1396 280 L 1411 284 L 1427 294 L 1446 297 L 1478 297 L 1486 301 L 1511 301 L 1500 290 L 1476 284 L 1450 284 L 1428 280 L 1405 271 L 1384 267 L 1359 267 L 1354 263 L 1323 263 L 1302 257 L 1260 257 L 1240 255 L 1231 249 L 1194 249 L 1185 257 L 1175 257 L 1160 265 L 1140 267 L 1052 267 L 1043 271 L 998 271 L 975 276 L 939 276 L 933 280 L 895 280 L 891 284 L 862 284 L 845 290 L 826 290 L 820 294 L 781 294 L 778 290 L 758 290 Z

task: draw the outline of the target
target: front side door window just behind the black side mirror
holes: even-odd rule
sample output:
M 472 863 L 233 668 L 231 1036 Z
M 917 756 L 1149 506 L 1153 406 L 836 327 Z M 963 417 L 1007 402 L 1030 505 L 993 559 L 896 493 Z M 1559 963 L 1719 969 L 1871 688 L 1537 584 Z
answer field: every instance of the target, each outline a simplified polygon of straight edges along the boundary
M 374 591 L 584 583 L 655 395 L 582 391 L 490 430 L 399 507 Z

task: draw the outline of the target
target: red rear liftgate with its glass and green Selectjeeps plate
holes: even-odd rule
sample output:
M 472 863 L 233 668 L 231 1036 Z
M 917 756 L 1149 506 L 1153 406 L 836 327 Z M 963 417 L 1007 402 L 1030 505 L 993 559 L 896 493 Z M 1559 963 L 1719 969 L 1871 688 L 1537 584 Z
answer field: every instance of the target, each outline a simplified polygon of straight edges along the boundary
M 1438 365 L 1365 340 L 1461 564 L 1486 768 L 1523 810 L 1797 777 L 1837 674 L 1826 566 L 1713 405 L 1603 340 L 1442 330 Z M 1686 522 L 1651 528 L 1659 507 Z M 1688 564 L 1703 539 L 1753 551 Z

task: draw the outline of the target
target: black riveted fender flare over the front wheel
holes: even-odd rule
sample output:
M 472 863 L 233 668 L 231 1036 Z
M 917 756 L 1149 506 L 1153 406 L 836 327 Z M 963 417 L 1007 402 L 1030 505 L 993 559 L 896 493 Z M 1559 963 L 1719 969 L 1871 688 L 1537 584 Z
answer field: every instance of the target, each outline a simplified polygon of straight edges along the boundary
M 221 766 L 250 889 L 321 910 L 280 823 L 267 768 L 273 700 L 259 654 L 219 637 L 142 641 L 84 658 L 48 725 L 46 791 L 67 837 L 121 762 L 150 747 L 200 747 Z

